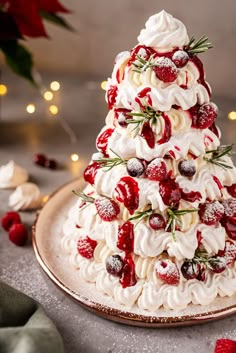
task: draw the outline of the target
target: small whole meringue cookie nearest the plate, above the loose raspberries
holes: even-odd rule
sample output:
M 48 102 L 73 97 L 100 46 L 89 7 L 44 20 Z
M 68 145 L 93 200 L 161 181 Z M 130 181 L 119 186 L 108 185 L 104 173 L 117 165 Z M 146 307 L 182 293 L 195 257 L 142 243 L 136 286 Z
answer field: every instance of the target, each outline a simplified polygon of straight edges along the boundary
M 42 195 L 37 185 L 25 183 L 10 195 L 8 204 L 15 211 L 37 209 L 42 205 Z

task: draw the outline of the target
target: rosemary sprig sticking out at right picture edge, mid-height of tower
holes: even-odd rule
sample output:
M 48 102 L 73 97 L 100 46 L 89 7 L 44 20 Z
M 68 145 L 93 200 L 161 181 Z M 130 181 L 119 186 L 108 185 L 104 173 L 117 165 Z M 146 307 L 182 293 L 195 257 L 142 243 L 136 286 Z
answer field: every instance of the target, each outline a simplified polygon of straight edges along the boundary
M 211 153 L 211 157 L 207 157 L 204 156 L 203 159 L 206 162 L 212 163 L 217 165 L 218 167 L 221 167 L 223 169 L 233 169 L 232 166 L 226 164 L 226 162 L 224 161 L 224 159 L 222 159 L 222 157 L 224 156 L 231 156 L 232 154 L 234 154 L 235 152 L 233 151 L 233 144 L 231 145 L 222 145 L 217 147 L 216 150 L 210 150 L 207 151 L 206 154 Z

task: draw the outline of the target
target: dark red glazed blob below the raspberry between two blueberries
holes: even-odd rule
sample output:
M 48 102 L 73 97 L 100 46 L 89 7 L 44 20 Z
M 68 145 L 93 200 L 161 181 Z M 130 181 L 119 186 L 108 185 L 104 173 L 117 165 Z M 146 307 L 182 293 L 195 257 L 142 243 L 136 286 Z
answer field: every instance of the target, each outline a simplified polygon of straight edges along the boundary
M 165 179 L 159 183 L 159 193 L 165 205 L 176 206 L 181 199 L 181 189 L 175 179 Z

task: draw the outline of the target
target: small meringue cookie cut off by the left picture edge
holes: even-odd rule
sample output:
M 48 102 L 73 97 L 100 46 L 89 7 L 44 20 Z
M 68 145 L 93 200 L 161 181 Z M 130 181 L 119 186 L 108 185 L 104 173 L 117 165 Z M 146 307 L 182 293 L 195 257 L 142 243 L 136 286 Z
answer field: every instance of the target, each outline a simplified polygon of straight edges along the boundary
M 14 161 L 0 167 L 0 189 L 11 189 L 25 183 L 29 178 L 27 170 Z

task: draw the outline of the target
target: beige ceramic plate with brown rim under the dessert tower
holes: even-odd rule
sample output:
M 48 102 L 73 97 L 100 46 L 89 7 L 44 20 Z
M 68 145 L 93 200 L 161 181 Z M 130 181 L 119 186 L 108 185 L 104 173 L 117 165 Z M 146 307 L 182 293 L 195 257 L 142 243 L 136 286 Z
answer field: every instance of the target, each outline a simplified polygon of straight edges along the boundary
M 75 203 L 71 190 L 81 190 L 82 179 L 77 179 L 56 191 L 40 213 L 33 227 L 33 247 L 36 258 L 50 277 L 65 293 L 80 305 L 106 319 L 143 327 L 169 327 L 193 325 L 220 319 L 236 313 L 236 296 L 217 298 L 207 306 L 189 305 L 181 311 L 159 309 L 154 313 L 138 307 L 117 305 L 108 296 L 95 291 L 94 284 L 84 282 L 68 263 L 60 248 L 62 225 L 69 208 Z

